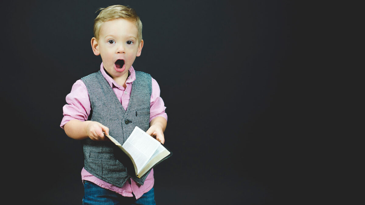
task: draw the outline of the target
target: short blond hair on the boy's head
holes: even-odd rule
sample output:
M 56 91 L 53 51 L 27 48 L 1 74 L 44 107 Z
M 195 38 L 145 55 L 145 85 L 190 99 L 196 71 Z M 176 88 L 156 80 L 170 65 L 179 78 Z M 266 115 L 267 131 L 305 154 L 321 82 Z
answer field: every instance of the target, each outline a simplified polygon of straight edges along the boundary
M 103 22 L 107 22 L 113 19 L 126 19 L 135 23 L 138 33 L 138 43 L 142 40 L 142 22 L 137 16 L 136 11 L 133 8 L 123 5 L 112 5 L 107 8 L 99 8 L 96 12 L 100 11 L 99 15 L 94 20 L 94 37 L 99 39 L 100 27 Z M 96 13 L 95 12 L 95 13 Z

